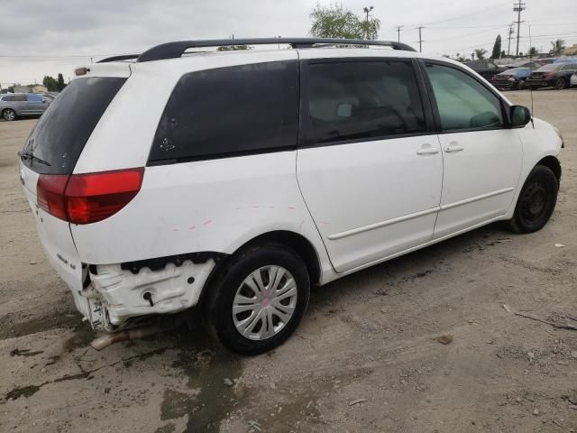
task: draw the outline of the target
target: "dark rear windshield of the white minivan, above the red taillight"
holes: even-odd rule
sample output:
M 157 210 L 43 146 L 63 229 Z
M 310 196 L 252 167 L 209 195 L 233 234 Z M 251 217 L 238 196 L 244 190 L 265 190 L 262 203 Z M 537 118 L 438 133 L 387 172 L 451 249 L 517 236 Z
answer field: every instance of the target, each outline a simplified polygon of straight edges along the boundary
M 126 78 L 77 78 L 60 93 L 24 145 L 23 163 L 39 173 L 69 174 L 88 137 Z

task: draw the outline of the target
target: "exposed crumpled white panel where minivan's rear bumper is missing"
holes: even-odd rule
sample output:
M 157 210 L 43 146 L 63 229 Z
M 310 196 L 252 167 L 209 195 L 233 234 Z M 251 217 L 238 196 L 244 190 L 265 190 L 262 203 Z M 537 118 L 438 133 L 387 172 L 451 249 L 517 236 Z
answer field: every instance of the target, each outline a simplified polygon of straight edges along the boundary
M 160 269 L 90 265 L 89 282 L 75 293 L 75 302 L 96 330 L 121 330 L 129 327 L 132 318 L 177 313 L 196 306 L 217 260 L 178 260 L 165 263 Z

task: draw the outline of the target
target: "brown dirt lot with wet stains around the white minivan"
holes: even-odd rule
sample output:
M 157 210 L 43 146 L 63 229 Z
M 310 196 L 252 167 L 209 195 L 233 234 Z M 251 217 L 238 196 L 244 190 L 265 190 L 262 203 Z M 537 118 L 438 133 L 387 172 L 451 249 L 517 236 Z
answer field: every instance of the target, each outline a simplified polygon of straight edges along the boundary
M 542 231 L 485 227 L 313 290 L 297 334 L 256 357 L 196 322 L 90 348 L 18 178 L 36 120 L 1 122 L 0 430 L 577 431 L 577 89 L 533 96 L 566 147 Z

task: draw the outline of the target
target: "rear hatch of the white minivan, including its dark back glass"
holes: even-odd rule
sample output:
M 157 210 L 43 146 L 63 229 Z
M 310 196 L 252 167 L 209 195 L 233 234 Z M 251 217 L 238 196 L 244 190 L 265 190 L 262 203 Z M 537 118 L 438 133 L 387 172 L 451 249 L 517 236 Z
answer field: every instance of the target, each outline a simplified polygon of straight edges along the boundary
M 66 186 L 90 134 L 125 81 L 126 77 L 74 79 L 41 116 L 20 152 L 20 179 L 41 244 L 83 312 L 87 307 L 78 305 L 84 302 L 78 290 L 82 290 L 86 270 L 78 258 L 66 212 L 58 208 L 56 196 L 45 186 Z

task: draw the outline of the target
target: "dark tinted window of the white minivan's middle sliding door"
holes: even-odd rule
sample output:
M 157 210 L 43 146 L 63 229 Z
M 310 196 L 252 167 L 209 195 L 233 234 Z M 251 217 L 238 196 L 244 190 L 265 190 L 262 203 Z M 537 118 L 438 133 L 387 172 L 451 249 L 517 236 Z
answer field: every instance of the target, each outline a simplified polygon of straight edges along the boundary
M 314 143 L 426 131 L 410 62 L 345 61 L 309 65 L 308 112 Z

